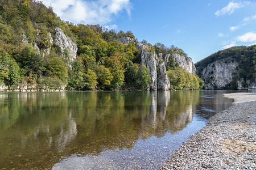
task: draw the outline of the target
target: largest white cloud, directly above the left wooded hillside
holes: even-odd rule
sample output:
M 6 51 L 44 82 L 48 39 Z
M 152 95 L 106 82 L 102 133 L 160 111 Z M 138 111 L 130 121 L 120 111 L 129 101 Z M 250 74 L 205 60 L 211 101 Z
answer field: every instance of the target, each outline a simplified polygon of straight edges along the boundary
M 113 16 L 126 10 L 130 16 L 130 0 L 42 0 L 52 6 L 53 11 L 63 20 L 84 24 L 107 24 Z

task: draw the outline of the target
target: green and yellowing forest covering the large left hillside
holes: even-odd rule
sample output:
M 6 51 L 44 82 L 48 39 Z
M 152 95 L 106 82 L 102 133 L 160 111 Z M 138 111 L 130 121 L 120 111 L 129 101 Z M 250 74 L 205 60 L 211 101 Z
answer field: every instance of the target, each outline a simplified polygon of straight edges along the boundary
M 61 50 L 49 35 L 60 28 L 77 45 L 77 56 Z M 122 44 L 120 37 L 136 40 L 131 31 L 106 29 L 100 25 L 63 22 L 40 1 L 1 0 L 0 2 L 0 86 L 10 90 L 28 87 L 34 90 L 147 90 L 150 71 L 141 65 L 141 50 L 133 42 Z M 182 49 L 161 43 L 141 42 L 155 53 L 178 53 Z M 39 52 L 35 50 L 38 46 Z M 48 51 L 48 52 L 47 52 Z M 196 90 L 203 80 L 187 73 L 170 57 L 166 63 L 173 90 Z

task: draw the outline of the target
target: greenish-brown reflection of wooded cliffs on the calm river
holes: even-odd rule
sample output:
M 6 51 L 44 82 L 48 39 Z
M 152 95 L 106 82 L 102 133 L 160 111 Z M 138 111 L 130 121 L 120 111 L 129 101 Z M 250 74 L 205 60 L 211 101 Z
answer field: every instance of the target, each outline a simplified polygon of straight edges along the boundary
M 0 168 L 51 168 L 74 154 L 131 148 L 192 121 L 201 91 L 0 94 Z

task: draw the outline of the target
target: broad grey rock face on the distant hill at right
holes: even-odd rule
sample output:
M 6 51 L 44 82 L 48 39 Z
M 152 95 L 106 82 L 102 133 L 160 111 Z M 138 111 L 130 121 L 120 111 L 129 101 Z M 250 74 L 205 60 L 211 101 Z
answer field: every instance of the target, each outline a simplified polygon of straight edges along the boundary
M 227 61 L 228 59 L 221 59 L 212 62 L 199 74 L 200 78 L 204 80 L 205 89 L 219 89 L 232 82 L 238 71 L 238 63 Z

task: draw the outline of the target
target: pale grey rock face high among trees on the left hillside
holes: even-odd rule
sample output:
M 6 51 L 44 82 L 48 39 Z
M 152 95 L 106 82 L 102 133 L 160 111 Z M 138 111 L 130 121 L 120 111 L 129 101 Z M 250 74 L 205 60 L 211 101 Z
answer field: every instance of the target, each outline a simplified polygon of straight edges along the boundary
M 65 36 L 65 33 L 60 28 L 55 28 L 56 39 L 53 42 L 60 46 L 61 52 L 67 48 L 73 58 L 76 58 L 77 46 L 69 37 Z

